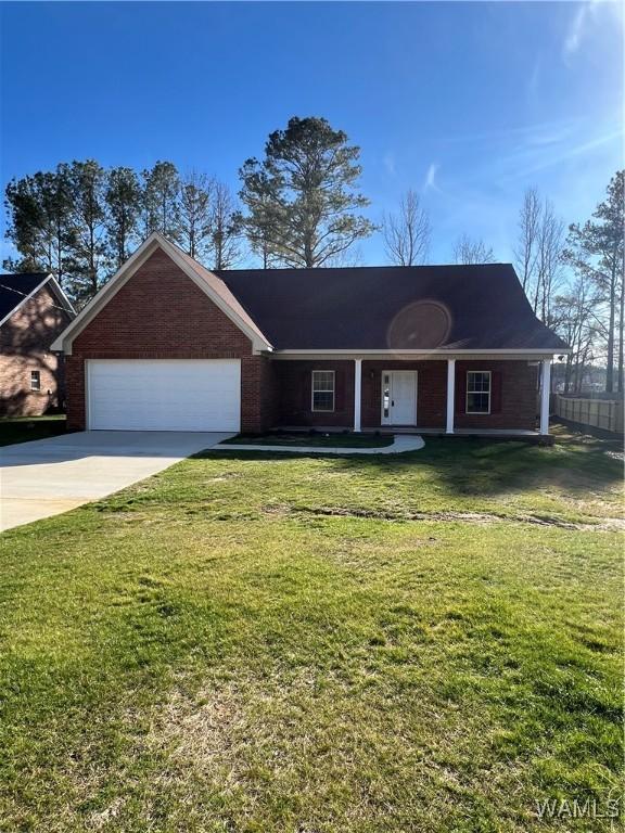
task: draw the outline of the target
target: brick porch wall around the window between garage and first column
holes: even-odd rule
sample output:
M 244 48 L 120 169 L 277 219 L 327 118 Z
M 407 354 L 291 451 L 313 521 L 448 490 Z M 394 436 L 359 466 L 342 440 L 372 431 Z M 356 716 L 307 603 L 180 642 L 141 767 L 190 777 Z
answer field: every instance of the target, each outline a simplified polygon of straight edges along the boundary
M 276 424 L 354 427 L 353 361 L 275 361 L 272 364 L 278 387 Z M 334 371 L 334 411 L 312 410 L 314 370 Z

